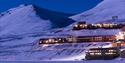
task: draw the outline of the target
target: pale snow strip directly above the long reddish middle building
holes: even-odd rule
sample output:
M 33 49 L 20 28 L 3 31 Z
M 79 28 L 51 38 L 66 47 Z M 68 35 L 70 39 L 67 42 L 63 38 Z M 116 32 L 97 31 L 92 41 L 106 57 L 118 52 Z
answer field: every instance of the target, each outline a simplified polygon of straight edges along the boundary
M 74 36 L 98 36 L 98 35 L 116 35 L 120 32 L 120 29 L 96 29 L 96 30 L 81 30 L 70 32 Z

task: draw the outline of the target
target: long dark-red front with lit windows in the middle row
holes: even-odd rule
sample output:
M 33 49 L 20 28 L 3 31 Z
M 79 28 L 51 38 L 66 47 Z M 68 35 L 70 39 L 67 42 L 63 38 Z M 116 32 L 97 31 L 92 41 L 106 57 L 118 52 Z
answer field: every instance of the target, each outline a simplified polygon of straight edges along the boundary
M 43 39 L 43 40 L 40 40 L 44 43 L 58 43 L 58 42 L 77 42 L 77 41 L 108 41 L 108 40 L 113 40 L 113 37 L 110 37 L 110 36 L 105 36 L 105 37 L 70 37 L 70 38 L 64 38 L 64 39 L 61 39 L 61 38 L 50 38 L 50 39 Z

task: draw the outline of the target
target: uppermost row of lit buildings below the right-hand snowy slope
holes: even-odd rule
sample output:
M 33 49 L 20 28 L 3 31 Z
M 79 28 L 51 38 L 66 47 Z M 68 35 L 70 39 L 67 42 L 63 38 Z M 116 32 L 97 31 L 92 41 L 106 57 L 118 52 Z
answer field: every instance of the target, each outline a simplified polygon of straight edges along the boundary
M 124 27 L 125 24 L 121 23 L 96 23 L 96 24 L 86 24 L 82 22 L 78 22 L 73 26 L 72 30 L 82 30 L 82 29 L 120 29 Z

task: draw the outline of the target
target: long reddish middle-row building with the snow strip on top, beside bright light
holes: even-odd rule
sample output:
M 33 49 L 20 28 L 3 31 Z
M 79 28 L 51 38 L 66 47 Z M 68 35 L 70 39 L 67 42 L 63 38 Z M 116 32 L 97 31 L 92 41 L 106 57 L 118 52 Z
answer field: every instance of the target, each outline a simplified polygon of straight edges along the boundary
M 72 42 L 113 42 L 117 39 L 124 39 L 120 29 L 95 29 L 82 30 L 72 33 Z

